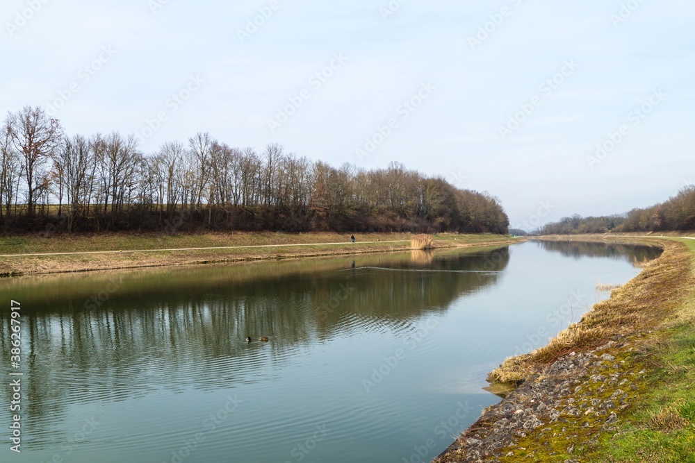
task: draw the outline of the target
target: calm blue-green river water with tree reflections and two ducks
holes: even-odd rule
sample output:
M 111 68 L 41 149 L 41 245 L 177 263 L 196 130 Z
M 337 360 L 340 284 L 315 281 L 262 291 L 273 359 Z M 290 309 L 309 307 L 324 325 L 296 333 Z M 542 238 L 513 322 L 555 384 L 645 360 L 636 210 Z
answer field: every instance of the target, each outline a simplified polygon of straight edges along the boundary
M 528 242 L 0 280 L 0 460 L 429 461 L 499 401 L 482 389 L 491 369 L 657 255 Z M 21 455 L 9 450 L 10 299 L 22 304 Z

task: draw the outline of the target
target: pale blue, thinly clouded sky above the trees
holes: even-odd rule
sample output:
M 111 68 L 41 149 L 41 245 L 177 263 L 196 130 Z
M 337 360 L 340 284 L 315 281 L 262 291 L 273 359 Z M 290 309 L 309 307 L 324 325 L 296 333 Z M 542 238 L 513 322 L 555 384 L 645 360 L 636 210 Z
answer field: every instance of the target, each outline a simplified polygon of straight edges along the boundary
M 512 228 L 695 183 L 692 0 L 4 0 L 0 112 L 401 162 Z

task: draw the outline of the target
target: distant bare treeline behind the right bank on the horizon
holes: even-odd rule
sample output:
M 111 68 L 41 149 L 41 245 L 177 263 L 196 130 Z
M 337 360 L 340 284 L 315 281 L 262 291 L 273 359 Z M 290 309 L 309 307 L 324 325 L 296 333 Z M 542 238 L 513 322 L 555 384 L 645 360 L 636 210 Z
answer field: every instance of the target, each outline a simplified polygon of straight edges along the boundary
M 606 217 L 573 215 L 547 224 L 539 235 L 573 235 L 577 233 L 626 233 L 667 230 L 695 230 L 695 186 L 688 186 L 661 204 L 633 209 L 626 214 Z

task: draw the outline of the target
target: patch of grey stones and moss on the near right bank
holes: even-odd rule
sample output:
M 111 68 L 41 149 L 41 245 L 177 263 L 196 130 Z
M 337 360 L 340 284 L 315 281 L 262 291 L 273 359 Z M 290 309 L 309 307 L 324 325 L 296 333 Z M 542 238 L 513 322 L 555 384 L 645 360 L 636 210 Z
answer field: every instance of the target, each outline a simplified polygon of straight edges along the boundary
M 484 410 L 434 462 L 545 461 L 534 458 L 537 446 L 554 461 L 578 461 L 571 459 L 575 450 L 595 443 L 598 431 L 615 430 L 639 393 L 633 380 L 645 371 L 637 369 L 637 345 L 619 336 L 587 353 L 560 357 Z

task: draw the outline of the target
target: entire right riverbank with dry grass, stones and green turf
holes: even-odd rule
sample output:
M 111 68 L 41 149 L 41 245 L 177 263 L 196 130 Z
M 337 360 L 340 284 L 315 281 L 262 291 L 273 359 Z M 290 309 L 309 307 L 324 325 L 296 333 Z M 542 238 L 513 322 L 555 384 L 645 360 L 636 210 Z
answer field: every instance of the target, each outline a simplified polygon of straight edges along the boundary
M 493 371 L 516 389 L 434 462 L 695 461 L 695 241 L 646 242 L 662 256 L 547 346 Z

